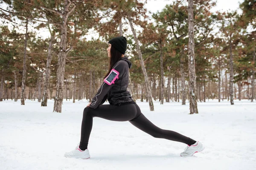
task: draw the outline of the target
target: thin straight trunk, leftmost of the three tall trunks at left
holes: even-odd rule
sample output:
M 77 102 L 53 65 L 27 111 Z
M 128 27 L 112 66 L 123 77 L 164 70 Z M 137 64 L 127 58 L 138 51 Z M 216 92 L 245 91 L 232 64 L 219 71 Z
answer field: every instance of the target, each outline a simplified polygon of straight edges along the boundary
M 25 34 L 25 45 L 24 45 L 24 58 L 23 58 L 23 76 L 21 81 L 21 105 L 25 105 L 25 88 L 26 88 L 26 48 L 28 41 L 28 19 L 26 19 L 26 34 Z

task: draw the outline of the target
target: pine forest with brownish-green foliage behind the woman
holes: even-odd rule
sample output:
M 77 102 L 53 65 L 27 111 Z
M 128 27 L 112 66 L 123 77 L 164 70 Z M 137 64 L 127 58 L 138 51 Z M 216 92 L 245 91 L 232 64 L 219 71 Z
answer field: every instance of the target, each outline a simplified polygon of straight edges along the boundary
M 253 102 L 254 0 L 228 11 L 213 10 L 213 0 L 177 0 L 150 13 L 147 3 L 0 0 L 0 101 L 54 99 L 56 112 L 63 99 L 90 102 L 108 70 L 108 40 L 125 36 L 128 91 L 151 111 L 152 99 L 193 101 L 191 113 L 207 99 Z

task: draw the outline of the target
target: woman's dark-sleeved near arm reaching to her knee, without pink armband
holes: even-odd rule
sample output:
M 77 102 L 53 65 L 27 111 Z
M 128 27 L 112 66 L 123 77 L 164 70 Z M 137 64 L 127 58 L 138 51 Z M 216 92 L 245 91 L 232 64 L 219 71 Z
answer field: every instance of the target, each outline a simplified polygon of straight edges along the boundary
M 119 72 L 118 77 L 122 77 L 122 75 L 124 74 L 124 71 L 125 71 L 124 68 L 125 68 L 126 63 L 127 63 L 126 61 L 122 61 L 122 60 L 118 61 L 116 66 L 113 68 Z M 100 104 L 102 104 L 102 102 L 104 103 L 105 101 L 103 101 L 103 100 L 107 99 L 106 95 L 108 94 L 108 91 L 110 91 L 110 89 L 112 87 L 113 87 L 113 84 L 108 85 L 107 83 L 103 82 L 102 85 L 100 86 L 97 94 L 93 97 L 92 103 L 90 104 L 90 108 L 96 109 L 99 107 Z

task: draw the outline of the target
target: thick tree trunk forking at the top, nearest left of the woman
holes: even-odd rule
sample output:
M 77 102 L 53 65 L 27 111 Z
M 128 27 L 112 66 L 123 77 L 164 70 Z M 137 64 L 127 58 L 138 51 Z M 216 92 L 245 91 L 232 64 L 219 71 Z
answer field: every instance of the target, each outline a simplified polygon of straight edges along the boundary
M 65 73 L 65 64 L 67 53 L 70 51 L 67 50 L 67 18 L 70 13 L 76 8 L 76 5 L 69 11 L 70 8 L 66 8 L 68 4 L 71 3 L 69 0 L 64 0 L 64 14 L 62 16 L 61 24 L 61 41 L 59 45 L 59 54 L 58 54 L 58 69 L 57 69 L 57 83 L 56 83 L 56 95 L 54 100 L 54 109 L 53 111 L 61 113 L 61 105 L 63 99 L 63 84 L 64 84 L 64 73 Z

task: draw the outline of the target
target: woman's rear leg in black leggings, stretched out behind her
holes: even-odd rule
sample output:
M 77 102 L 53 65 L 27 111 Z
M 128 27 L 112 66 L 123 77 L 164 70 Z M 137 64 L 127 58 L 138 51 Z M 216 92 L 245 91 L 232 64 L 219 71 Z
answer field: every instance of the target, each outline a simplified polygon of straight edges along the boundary
M 175 131 L 164 130 L 157 127 L 141 113 L 140 108 L 137 104 L 134 105 L 136 106 L 137 109 L 137 116 L 129 122 L 135 127 L 139 128 L 140 130 L 144 131 L 145 133 L 148 133 L 149 135 L 155 138 L 163 138 L 172 141 L 182 142 L 188 144 L 189 146 L 195 144 L 196 141 L 190 139 L 189 137 L 183 136 Z

